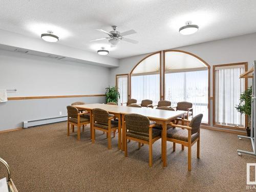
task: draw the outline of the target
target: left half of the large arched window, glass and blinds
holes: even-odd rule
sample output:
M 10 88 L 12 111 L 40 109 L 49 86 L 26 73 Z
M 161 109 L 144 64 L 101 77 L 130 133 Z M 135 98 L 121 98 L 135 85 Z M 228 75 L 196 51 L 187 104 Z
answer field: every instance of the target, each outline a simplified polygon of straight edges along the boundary
M 160 52 L 148 55 L 134 67 L 131 76 L 131 98 L 160 100 Z

